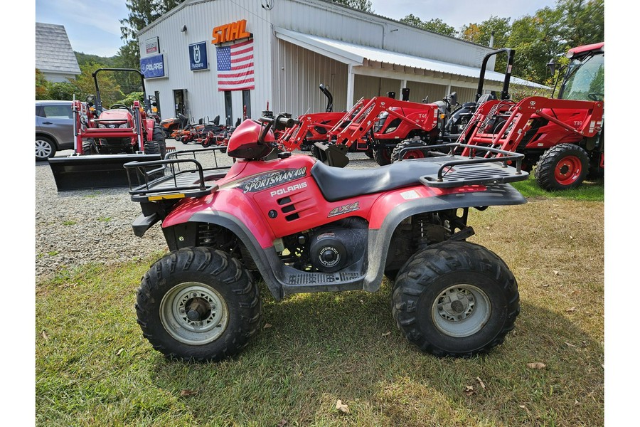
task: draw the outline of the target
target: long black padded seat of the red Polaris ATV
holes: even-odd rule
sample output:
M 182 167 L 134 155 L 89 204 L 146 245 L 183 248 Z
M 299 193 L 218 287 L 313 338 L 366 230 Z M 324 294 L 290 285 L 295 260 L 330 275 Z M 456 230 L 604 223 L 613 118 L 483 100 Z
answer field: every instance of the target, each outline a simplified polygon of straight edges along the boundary
M 420 176 L 437 174 L 439 167 L 440 164 L 424 159 L 375 169 L 342 169 L 316 162 L 311 168 L 311 176 L 327 201 L 338 201 L 419 184 Z

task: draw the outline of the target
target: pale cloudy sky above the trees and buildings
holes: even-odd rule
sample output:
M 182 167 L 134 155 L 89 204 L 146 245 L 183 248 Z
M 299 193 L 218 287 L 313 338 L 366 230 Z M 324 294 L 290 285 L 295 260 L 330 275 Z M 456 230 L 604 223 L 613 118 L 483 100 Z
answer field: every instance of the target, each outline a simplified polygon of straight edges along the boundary
M 402 19 L 413 14 L 422 21 L 439 18 L 457 30 L 492 15 L 518 19 L 545 6 L 555 6 L 555 0 L 372 0 L 371 3 L 378 15 Z M 128 14 L 124 0 L 36 0 L 36 22 L 65 26 L 74 51 L 98 56 L 117 54 L 122 46 L 119 20 Z

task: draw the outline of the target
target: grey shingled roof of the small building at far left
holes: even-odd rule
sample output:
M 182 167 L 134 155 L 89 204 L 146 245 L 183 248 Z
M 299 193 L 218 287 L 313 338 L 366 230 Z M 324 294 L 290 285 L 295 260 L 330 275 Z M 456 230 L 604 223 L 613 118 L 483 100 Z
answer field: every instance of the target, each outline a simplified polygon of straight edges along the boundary
M 64 26 L 36 22 L 36 68 L 48 73 L 81 73 Z

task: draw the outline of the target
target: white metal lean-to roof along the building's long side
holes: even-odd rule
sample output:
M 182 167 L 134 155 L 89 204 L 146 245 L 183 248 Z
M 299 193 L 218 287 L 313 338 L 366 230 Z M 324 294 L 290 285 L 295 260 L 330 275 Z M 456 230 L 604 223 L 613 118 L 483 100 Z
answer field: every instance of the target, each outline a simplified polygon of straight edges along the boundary
M 298 33 L 297 31 L 291 31 L 284 28 L 275 28 L 275 32 L 277 38 L 288 41 L 289 43 L 297 44 L 298 46 L 302 46 L 303 48 L 311 51 L 316 51 L 322 55 L 329 56 L 341 63 L 365 65 L 366 60 L 372 60 L 379 63 L 437 71 L 439 73 L 447 73 L 451 75 L 462 75 L 470 78 L 480 77 L 480 68 L 420 58 L 417 56 L 410 56 L 405 53 L 383 51 L 378 48 L 359 46 L 353 43 L 332 40 L 330 38 Z M 504 80 L 504 74 L 487 70 L 484 78 L 485 80 L 502 83 Z M 511 77 L 511 83 L 516 85 L 526 85 L 533 88 L 547 88 L 544 85 L 539 85 L 538 83 L 533 83 L 513 76 Z

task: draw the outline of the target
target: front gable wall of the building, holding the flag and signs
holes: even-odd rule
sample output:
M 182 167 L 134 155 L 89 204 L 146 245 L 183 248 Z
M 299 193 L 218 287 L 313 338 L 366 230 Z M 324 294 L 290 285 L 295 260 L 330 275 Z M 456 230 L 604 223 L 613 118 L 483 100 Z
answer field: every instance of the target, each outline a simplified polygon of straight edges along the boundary
M 145 80 L 146 90 L 160 92 L 160 108 L 163 118 L 174 117 L 173 90 L 186 89 L 188 113 L 198 120 L 209 116 L 211 120 L 225 117 L 224 95 L 218 91 L 216 77 L 215 45 L 211 44 L 211 33 L 216 26 L 240 19 L 247 20 L 247 31 L 254 36 L 255 90 L 251 90 L 252 117 L 265 110 L 267 101 L 272 101 L 272 31 L 268 12 L 254 0 L 203 1 L 183 4 L 174 13 L 163 16 L 144 33 L 139 34 L 141 56 L 146 56 L 144 41 L 158 36 L 160 53 L 169 78 Z M 187 31 L 183 32 L 183 26 Z M 189 69 L 188 46 L 207 42 L 208 70 Z M 232 93 L 233 120 L 242 115 L 242 91 Z

